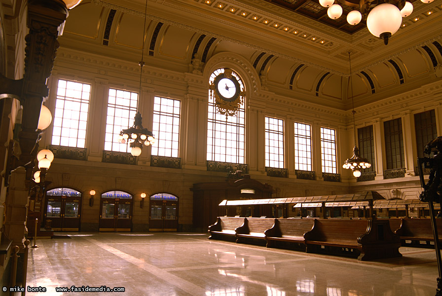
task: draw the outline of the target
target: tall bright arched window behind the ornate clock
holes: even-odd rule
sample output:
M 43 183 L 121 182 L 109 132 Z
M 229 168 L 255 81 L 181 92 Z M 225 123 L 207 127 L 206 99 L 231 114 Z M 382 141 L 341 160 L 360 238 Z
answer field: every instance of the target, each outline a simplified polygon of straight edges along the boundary
M 210 75 L 210 84 L 215 78 L 224 73 L 226 69 L 220 68 Z M 235 72 L 231 74 L 239 83 L 241 90 L 244 84 Z M 230 90 L 233 86 L 230 86 Z M 223 89 L 228 89 L 226 84 Z M 209 91 L 209 114 L 207 124 L 207 160 L 245 163 L 245 102 L 239 105 L 235 114 L 226 116 L 221 114 L 216 106 L 215 99 Z

